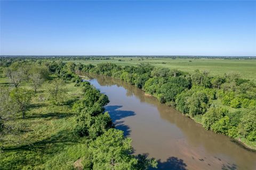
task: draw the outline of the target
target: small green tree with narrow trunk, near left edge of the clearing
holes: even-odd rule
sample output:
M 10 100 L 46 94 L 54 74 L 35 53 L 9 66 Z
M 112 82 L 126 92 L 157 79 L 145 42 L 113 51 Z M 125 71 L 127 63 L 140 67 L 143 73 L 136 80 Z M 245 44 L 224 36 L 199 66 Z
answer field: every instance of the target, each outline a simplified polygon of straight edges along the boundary
M 17 106 L 18 112 L 22 113 L 22 118 L 25 118 L 26 111 L 29 108 L 33 92 L 23 88 L 15 88 L 10 93 L 11 99 Z

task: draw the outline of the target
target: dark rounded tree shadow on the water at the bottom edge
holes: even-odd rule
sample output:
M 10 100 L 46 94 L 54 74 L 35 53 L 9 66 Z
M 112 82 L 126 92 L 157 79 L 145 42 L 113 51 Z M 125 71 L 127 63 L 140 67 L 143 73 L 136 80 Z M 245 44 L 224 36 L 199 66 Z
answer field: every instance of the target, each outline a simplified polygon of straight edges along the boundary
M 177 157 L 169 157 L 166 162 L 161 162 L 161 160 L 157 160 L 157 169 L 166 169 L 166 170 L 186 170 L 187 164 L 183 162 L 183 159 L 179 159 Z M 156 168 L 150 168 L 153 170 Z

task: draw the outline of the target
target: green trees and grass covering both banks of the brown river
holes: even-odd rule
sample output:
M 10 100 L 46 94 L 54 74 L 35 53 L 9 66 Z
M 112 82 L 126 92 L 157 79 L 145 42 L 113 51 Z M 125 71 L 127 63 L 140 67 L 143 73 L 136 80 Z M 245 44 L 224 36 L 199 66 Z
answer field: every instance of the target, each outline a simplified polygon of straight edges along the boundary
M 239 74 L 185 72 L 148 63 L 93 65 L 7 57 L 0 63 L 3 169 L 156 166 L 146 155 L 131 155 L 131 139 L 114 129 L 104 111 L 107 96 L 82 82 L 78 74 L 83 72 L 121 79 L 206 130 L 256 148 L 256 85 Z

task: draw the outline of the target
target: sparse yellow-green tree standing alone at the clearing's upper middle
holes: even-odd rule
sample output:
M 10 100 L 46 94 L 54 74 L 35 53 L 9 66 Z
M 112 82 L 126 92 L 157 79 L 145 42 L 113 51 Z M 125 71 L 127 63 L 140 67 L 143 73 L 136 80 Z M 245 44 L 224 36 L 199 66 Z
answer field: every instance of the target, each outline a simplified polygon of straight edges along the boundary
M 62 79 L 54 79 L 47 84 L 47 91 L 49 92 L 49 99 L 54 105 L 61 105 L 65 100 L 65 82 Z

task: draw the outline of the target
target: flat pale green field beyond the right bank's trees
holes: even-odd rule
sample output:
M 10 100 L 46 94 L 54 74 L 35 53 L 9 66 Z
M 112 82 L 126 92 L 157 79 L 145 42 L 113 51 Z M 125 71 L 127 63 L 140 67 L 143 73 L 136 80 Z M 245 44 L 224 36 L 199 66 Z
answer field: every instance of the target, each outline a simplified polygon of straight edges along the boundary
M 122 60 L 122 61 L 118 61 Z M 140 57 L 115 57 L 111 60 L 76 60 L 75 63 L 99 64 L 111 62 L 117 65 L 136 65 L 139 63 L 150 63 L 157 67 L 179 69 L 181 71 L 193 72 L 196 69 L 210 71 L 211 75 L 238 72 L 243 78 L 256 80 L 256 60 L 224 60 L 217 58 L 140 58 Z

